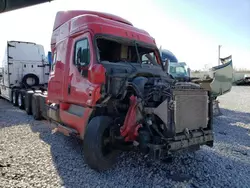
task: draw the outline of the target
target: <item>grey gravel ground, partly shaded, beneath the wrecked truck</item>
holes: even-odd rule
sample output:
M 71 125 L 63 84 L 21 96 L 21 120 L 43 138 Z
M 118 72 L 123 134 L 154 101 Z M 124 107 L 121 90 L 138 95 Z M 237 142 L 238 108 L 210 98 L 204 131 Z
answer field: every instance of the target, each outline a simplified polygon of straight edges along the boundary
M 249 95 L 250 87 L 236 86 L 219 98 L 213 148 L 176 154 L 171 163 L 124 153 L 104 173 L 84 163 L 81 142 L 0 99 L 0 187 L 250 187 Z

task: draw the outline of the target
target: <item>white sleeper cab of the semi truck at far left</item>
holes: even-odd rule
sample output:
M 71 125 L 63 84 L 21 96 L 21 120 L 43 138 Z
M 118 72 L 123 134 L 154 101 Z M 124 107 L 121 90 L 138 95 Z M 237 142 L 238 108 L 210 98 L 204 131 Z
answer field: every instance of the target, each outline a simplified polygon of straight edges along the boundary
M 23 41 L 8 41 L 0 69 L 0 96 L 24 108 L 26 92 L 46 88 L 49 64 L 44 47 Z

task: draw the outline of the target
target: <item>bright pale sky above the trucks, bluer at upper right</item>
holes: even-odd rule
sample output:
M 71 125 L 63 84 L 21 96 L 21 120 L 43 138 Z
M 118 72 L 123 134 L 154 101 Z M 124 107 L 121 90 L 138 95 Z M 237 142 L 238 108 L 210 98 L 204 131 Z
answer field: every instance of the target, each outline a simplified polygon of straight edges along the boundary
M 7 40 L 44 45 L 50 37 L 56 12 L 89 9 L 113 13 L 148 31 L 158 47 L 172 51 L 191 69 L 215 66 L 221 56 L 232 55 L 236 68 L 250 69 L 249 0 L 55 0 L 0 14 L 0 59 Z

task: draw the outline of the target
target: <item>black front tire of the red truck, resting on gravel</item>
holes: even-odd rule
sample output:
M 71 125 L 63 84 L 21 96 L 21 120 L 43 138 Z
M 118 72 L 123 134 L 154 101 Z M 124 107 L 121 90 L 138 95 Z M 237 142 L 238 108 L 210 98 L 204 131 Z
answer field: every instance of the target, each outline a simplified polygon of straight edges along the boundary
M 104 171 L 112 167 L 116 162 L 119 151 L 108 150 L 105 154 L 103 146 L 103 136 L 110 130 L 112 118 L 108 116 L 94 117 L 86 127 L 83 140 L 84 160 L 91 169 Z

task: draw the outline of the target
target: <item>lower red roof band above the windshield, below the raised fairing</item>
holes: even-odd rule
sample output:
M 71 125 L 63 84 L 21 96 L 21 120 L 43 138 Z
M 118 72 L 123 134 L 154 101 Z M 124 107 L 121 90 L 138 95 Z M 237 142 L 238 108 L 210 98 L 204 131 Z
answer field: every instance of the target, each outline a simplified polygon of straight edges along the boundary
M 80 34 L 86 30 L 91 31 L 93 35 L 96 33 L 110 34 L 155 45 L 154 38 L 142 29 L 103 17 L 86 14 L 72 18 L 53 31 L 51 38 L 52 52 L 56 43 L 64 40 L 66 37 L 77 33 Z

